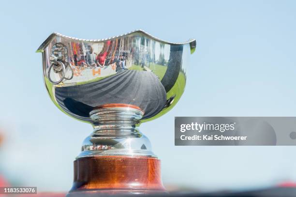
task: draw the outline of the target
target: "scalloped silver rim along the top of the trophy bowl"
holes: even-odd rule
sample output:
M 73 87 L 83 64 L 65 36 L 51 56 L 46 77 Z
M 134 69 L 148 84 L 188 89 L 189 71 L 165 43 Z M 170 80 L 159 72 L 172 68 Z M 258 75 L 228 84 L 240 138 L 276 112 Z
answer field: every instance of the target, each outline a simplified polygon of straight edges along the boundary
M 91 42 L 91 43 L 99 43 L 99 42 L 103 42 L 103 41 L 107 41 L 107 40 L 112 40 L 112 39 L 115 39 L 115 38 L 121 38 L 123 36 L 130 35 L 130 34 L 136 33 L 136 32 L 143 33 L 143 34 L 147 35 L 148 37 L 150 37 L 150 38 L 152 38 L 154 40 L 157 40 L 157 41 L 163 42 L 165 44 L 169 44 L 169 45 L 184 45 L 184 44 L 196 42 L 195 39 L 189 39 L 188 41 L 186 41 L 184 43 L 172 43 L 172 42 L 168 42 L 168 41 L 159 39 L 159 38 L 157 38 L 157 37 L 155 37 L 155 36 L 147 33 L 144 30 L 134 30 L 134 31 L 131 31 L 131 32 L 128 32 L 128 33 L 125 33 L 125 34 L 121 34 L 119 36 L 113 36 L 113 37 L 110 37 L 110 38 L 105 38 L 105 39 L 100 39 L 100 40 L 80 39 L 80 38 L 65 36 L 65 35 L 62 35 L 62 34 L 60 34 L 58 32 L 54 32 L 54 33 L 50 34 L 48 36 L 48 38 L 46 38 L 46 40 L 44 41 L 44 43 L 42 43 L 42 45 L 39 46 L 39 48 L 37 49 L 36 52 L 43 52 L 44 48 L 52 41 L 52 39 L 55 36 L 60 36 L 60 37 L 63 37 L 63 38 L 68 38 L 68 39 L 77 40 L 77 41 L 84 41 L 84 42 Z

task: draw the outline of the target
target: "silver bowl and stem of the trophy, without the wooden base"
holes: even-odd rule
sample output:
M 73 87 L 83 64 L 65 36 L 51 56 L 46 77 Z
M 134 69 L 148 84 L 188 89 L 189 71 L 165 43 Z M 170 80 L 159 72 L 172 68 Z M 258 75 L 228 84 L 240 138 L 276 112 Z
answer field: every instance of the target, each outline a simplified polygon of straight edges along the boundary
M 49 96 L 61 111 L 94 127 L 79 157 L 153 156 L 136 127 L 177 104 L 195 45 L 142 30 L 102 40 L 51 34 L 37 50 Z

